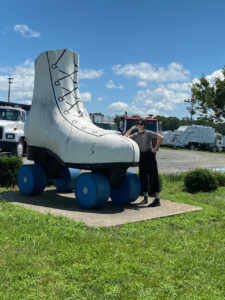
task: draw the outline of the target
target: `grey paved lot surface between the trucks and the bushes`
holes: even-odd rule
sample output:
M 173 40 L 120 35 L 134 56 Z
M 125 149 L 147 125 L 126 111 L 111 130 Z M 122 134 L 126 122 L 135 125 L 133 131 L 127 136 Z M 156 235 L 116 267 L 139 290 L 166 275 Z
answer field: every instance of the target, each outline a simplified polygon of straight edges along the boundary
M 24 164 L 33 163 L 23 158 Z M 164 150 L 157 152 L 160 173 L 180 173 L 195 168 L 225 168 L 225 155 L 210 152 Z M 138 172 L 138 168 L 131 168 Z

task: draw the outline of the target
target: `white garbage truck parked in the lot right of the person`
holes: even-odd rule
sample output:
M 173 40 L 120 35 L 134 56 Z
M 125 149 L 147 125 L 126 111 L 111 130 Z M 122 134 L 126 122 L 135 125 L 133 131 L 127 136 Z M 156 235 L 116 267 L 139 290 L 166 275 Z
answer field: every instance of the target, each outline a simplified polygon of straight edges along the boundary
M 186 147 L 191 150 L 198 148 L 212 152 L 221 152 L 222 135 L 216 133 L 215 129 L 210 126 L 180 126 L 178 130 L 172 132 L 167 145 L 174 149 Z

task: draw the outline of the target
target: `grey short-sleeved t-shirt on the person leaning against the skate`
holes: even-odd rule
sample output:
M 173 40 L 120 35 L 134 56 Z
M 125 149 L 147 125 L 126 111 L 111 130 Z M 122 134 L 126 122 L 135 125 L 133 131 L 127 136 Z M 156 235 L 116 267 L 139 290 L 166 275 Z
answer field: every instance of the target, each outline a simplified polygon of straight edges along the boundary
M 156 137 L 157 133 L 150 130 L 145 130 L 142 133 L 135 132 L 130 135 L 130 138 L 138 144 L 141 152 L 150 150 L 152 139 L 155 139 Z

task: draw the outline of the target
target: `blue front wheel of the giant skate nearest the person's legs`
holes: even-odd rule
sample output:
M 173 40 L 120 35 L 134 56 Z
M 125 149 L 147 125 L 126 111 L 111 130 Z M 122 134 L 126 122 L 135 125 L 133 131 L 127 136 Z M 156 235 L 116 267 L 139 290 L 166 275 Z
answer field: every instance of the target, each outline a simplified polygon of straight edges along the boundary
M 137 200 L 141 193 L 140 180 L 136 173 L 127 171 L 119 189 L 111 189 L 110 198 L 116 204 L 125 204 Z

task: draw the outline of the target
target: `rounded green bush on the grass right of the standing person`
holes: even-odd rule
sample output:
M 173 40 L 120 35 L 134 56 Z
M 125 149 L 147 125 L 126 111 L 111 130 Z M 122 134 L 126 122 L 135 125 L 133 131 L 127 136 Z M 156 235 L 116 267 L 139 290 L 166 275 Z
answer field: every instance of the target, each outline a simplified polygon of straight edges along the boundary
M 188 171 L 184 177 L 184 185 L 189 193 L 209 192 L 218 188 L 217 179 L 208 169 Z

